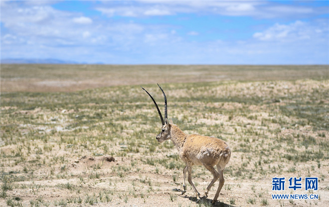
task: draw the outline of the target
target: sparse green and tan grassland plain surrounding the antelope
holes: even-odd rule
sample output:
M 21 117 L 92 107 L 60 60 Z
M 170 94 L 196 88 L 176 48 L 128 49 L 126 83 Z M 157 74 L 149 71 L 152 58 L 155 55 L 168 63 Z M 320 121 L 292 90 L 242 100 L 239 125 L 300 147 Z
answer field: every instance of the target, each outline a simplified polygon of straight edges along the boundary
M 210 206 L 218 182 L 199 203 L 190 186 L 172 191 L 184 165 L 170 141 L 156 141 L 161 122 L 137 85 L 162 105 L 157 81 L 185 133 L 231 147 L 215 206 L 329 205 L 328 66 L 108 67 L 1 65 L 0 206 Z M 192 175 L 200 192 L 212 179 L 202 167 Z M 316 192 L 284 193 L 319 200 L 272 200 L 273 177 L 318 177 Z

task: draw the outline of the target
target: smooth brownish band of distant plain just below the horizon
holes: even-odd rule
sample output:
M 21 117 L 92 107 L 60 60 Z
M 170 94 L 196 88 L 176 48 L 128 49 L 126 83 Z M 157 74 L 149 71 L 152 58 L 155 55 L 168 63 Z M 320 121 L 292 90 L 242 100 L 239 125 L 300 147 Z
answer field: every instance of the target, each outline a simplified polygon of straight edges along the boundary
M 1 64 L 1 91 L 68 92 L 157 82 L 296 80 L 325 77 L 328 77 L 327 65 Z

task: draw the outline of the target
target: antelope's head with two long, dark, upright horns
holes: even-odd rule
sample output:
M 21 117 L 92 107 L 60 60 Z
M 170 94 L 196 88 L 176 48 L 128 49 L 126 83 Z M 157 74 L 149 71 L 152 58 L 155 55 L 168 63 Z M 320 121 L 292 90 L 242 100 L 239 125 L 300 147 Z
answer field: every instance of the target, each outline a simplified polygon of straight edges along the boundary
M 164 92 L 164 90 L 160 87 L 159 84 L 158 84 L 158 86 L 159 86 L 159 88 L 161 89 L 162 93 L 164 94 L 164 98 L 165 98 L 165 119 L 163 118 L 163 116 L 162 116 L 162 114 L 161 114 L 161 111 L 160 111 L 160 109 L 159 109 L 159 107 L 158 107 L 157 102 L 154 100 L 154 98 L 151 96 L 151 94 L 150 94 L 147 90 L 145 90 L 142 86 L 141 86 L 141 87 L 143 88 L 143 90 L 145 90 L 145 92 L 146 92 L 147 94 L 149 94 L 149 96 L 150 96 L 151 99 L 153 100 L 154 105 L 156 106 L 156 108 L 157 108 L 157 110 L 158 110 L 158 113 L 159 113 L 159 116 L 160 116 L 160 119 L 161 119 L 161 123 L 162 123 L 162 127 L 161 127 L 161 132 L 160 132 L 160 134 L 157 135 L 157 140 L 158 140 L 158 142 L 162 143 L 162 142 L 164 142 L 165 140 L 170 139 L 170 124 L 169 124 L 169 122 L 168 122 L 168 118 L 167 118 L 167 99 L 166 99 L 166 97 L 165 97 L 165 92 Z

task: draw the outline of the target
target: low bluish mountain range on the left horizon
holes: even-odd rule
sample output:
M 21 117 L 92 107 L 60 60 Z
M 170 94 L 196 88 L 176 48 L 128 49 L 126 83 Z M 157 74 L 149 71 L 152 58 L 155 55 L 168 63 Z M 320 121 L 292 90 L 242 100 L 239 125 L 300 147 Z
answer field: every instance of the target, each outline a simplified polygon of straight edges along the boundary
M 87 64 L 86 62 L 76 62 L 68 60 L 58 60 L 58 59 L 22 59 L 22 58 L 12 58 L 12 59 L 1 59 L 1 64 Z M 103 64 L 101 62 L 93 64 Z

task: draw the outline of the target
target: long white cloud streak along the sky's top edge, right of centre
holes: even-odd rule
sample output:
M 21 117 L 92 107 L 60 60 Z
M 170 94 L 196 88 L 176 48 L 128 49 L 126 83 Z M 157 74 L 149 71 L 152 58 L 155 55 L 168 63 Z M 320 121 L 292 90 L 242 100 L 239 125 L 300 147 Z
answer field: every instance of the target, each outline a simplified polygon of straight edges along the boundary
M 256 18 L 305 17 L 327 13 L 328 7 L 313 9 L 307 5 L 279 4 L 273 1 L 128 1 L 124 6 L 112 1 L 95 8 L 108 16 L 175 15 L 177 13 L 212 13 L 227 16 L 252 16 Z

